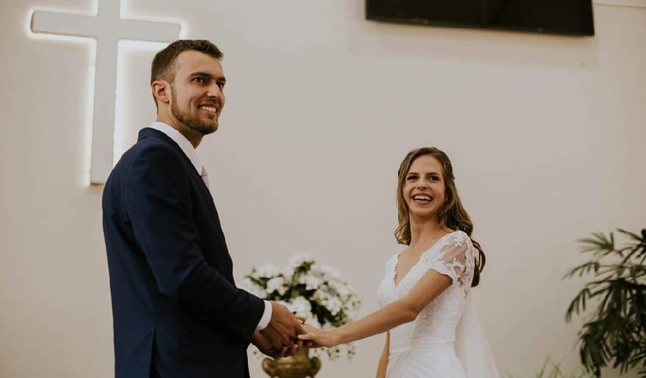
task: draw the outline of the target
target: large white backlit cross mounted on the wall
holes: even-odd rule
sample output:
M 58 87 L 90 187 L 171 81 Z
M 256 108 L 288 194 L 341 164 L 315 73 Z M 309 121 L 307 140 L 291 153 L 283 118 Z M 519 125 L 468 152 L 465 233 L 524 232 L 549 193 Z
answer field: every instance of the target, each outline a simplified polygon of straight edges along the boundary
M 122 19 L 120 0 L 98 3 L 93 16 L 34 11 L 34 33 L 96 39 L 90 184 L 104 184 L 113 166 L 118 42 L 168 42 L 179 38 L 181 24 Z

